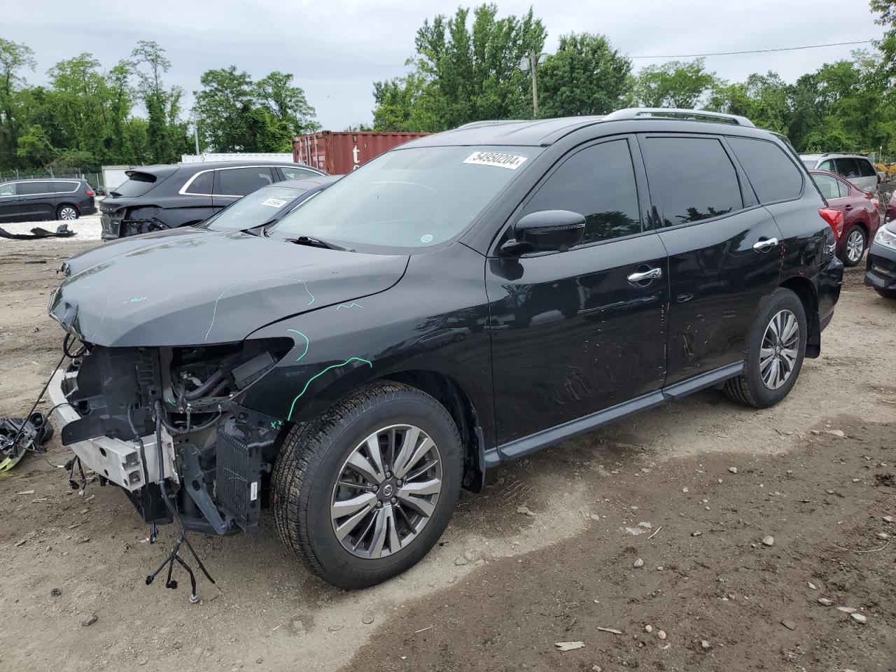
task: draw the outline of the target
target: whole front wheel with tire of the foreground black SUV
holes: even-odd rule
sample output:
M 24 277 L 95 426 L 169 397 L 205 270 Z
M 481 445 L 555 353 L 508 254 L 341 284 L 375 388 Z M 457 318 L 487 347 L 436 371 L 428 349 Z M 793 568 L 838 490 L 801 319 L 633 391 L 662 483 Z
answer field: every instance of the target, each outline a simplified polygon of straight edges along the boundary
M 461 491 L 461 437 L 433 397 L 401 383 L 350 393 L 295 426 L 271 478 L 284 546 L 324 581 L 367 588 L 426 556 Z

